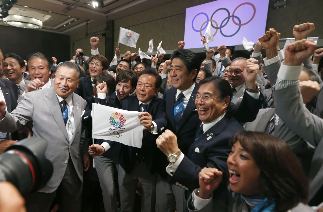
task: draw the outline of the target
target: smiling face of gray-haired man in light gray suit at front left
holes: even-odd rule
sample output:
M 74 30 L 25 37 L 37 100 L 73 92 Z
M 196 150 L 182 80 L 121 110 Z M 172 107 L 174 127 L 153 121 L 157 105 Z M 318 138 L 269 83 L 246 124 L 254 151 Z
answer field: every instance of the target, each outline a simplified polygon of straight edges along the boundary
M 71 95 L 78 87 L 77 71 L 66 66 L 61 66 L 54 80 L 54 90 L 63 99 Z

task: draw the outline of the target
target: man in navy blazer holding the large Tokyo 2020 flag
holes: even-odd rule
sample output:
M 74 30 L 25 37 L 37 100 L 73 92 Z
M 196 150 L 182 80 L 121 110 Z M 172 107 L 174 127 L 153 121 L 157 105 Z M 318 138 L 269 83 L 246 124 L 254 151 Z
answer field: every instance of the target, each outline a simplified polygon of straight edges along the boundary
M 123 110 L 141 112 L 139 118 L 144 132 L 141 148 L 121 147 L 118 170 L 121 211 L 132 211 L 138 181 L 141 186 L 141 211 L 151 212 L 155 208 L 156 155 L 159 152 L 155 140 L 167 125 L 165 100 L 155 96 L 160 85 L 160 75 L 154 69 L 147 68 L 138 75 L 136 96 L 122 101 Z M 105 151 L 102 146 L 95 144 L 90 154 L 102 154 Z

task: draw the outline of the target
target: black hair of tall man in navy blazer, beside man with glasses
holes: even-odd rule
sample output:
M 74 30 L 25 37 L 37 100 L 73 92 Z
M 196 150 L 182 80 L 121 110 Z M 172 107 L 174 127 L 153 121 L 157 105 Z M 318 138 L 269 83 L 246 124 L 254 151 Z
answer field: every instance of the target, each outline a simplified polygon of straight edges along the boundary
M 174 58 L 179 58 L 180 60 L 182 60 L 188 72 L 192 72 L 195 69 L 197 70 L 196 75 L 193 79 L 193 81 L 195 82 L 198 70 L 200 70 L 201 67 L 199 56 L 189 49 L 177 49 L 171 55 L 171 60 L 173 60 Z

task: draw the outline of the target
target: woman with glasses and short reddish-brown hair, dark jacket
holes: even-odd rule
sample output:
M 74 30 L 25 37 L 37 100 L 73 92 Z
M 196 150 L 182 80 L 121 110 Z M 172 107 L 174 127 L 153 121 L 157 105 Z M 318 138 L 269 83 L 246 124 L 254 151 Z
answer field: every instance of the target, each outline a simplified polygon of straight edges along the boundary
M 85 100 L 87 99 L 87 97 L 93 96 L 93 79 L 100 73 L 105 73 L 108 68 L 109 62 L 105 56 L 101 54 L 91 56 L 89 63 L 90 76 L 81 77 L 75 93 L 80 95 Z

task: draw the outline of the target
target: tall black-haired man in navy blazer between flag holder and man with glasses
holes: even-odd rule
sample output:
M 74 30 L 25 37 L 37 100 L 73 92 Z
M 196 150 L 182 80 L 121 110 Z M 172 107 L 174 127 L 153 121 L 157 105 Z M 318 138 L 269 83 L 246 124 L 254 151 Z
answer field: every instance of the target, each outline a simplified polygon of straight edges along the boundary
M 200 69 L 200 60 L 196 53 L 188 49 L 178 49 L 171 55 L 172 61 L 166 61 L 164 69 L 170 69 L 170 76 L 173 79 L 174 87 L 170 88 L 164 95 L 166 100 L 166 116 L 168 120 L 167 129 L 171 130 L 177 137 L 177 143 L 183 154 L 187 155 L 188 149 L 194 141 L 194 136 L 198 123 L 198 111 L 195 101 L 191 98 L 199 89 L 195 83 L 197 70 Z M 258 67 L 259 68 L 259 67 Z M 255 80 L 250 79 L 249 86 L 255 87 Z M 181 93 L 182 98 L 179 98 Z M 262 94 L 257 93 L 253 96 L 245 92 L 243 101 L 240 105 L 230 103 L 228 113 L 232 114 L 239 122 L 253 121 L 264 100 Z M 181 117 L 176 121 L 174 114 L 179 107 Z M 176 114 L 176 116 L 178 116 Z M 165 171 L 168 165 L 167 157 L 160 152 L 157 188 L 156 188 L 156 211 L 182 211 L 186 208 L 186 203 L 182 205 L 184 190 L 172 185 L 167 181 L 168 174 Z M 176 203 L 175 203 L 176 201 Z M 179 205 L 180 204 L 180 205 Z

